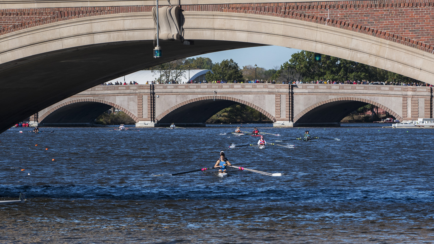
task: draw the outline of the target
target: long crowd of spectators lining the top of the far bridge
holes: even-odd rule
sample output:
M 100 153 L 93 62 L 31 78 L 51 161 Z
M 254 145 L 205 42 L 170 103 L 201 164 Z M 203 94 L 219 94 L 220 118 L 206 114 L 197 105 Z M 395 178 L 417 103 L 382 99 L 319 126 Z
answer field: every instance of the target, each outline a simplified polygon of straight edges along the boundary
M 351 84 L 351 85 L 402 85 L 402 86 L 433 86 L 424 82 L 399 82 L 399 81 L 384 81 L 384 82 L 380 82 L 380 81 L 367 81 L 367 80 L 362 80 L 362 81 L 353 81 L 353 80 L 348 80 L 348 81 L 331 81 L 331 80 L 317 80 L 317 81 L 308 81 L 308 82 L 303 82 L 303 81 L 283 81 L 283 82 L 277 82 L 275 80 L 246 80 L 246 81 L 187 81 L 187 82 L 180 82 L 180 81 L 146 81 L 146 84 L 201 84 L 201 83 L 270 83 L 270 84 L 276 84 L 276 83 L 282 83 L 282 84 Z M 130 81 L 129 84 L 124 81 L 122 83 L 116 81 L 115 84 L 113 84 L 112 82 L 109 83 L 103 83 L 101 85 L 138 85 L 137 82 L 135 81 Z

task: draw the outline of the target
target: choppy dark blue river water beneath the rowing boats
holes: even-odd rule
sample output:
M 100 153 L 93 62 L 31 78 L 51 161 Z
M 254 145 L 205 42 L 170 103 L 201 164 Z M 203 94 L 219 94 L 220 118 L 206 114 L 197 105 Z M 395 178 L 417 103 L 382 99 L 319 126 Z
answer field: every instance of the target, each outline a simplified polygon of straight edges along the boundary
M 309 128 L 340 140 L 276 142 L 306 128 L 260 125 L 282 146 L 229 148 L 259 140 L 224 134 L 234 126 L 7 130 L 0 200 L 27 201 L 0 205 L 0 243 L 433 243 L 434 130 L 343 124 Z M 212 167 L 220 150 L 286 175 L 162 176 Z

